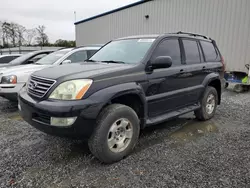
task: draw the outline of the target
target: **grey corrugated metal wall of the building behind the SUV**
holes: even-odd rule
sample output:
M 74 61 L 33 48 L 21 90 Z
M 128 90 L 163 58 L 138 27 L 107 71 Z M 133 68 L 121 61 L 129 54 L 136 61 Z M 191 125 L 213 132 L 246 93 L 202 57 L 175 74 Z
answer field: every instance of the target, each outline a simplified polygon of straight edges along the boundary
M 214 38 L 227 70 L 250 64 L 250 0 L 154 0 L 76 25 L 76 43 L 180 30 Z

